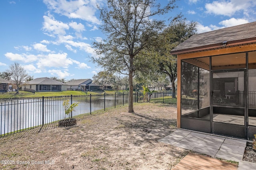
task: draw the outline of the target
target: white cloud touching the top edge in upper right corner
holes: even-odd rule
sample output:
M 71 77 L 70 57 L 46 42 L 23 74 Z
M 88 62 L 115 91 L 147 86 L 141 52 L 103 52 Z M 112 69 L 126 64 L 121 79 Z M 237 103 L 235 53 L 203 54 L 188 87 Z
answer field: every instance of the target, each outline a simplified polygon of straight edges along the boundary
M 206 13 L 232 16 L 239 11 L 247 11 L 256 5 L 254 0 L 218 0 L 205 5 Z

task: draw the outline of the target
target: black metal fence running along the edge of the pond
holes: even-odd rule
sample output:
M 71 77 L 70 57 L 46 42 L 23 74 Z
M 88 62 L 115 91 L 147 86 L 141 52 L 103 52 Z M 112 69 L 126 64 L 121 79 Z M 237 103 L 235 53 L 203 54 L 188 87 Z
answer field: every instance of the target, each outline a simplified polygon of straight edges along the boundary
M 150 100 L 145 100 L 148 96 Z M 63 101 L 70 100 L 70 104 L 79 102 L 69 116 L 70 118 L 89 115 L 109 108 L 128 104 L 129 94 L 99 94 L 57 96 L 42 98 L 24 98 L 0 101 L 0 137 L 32 129 L 48 123 L 56 123 L 64 119 Z M 160 102 L 176 104 L 176 99 L 170 93 L 145 94 L 135 92 L 134 102 Z

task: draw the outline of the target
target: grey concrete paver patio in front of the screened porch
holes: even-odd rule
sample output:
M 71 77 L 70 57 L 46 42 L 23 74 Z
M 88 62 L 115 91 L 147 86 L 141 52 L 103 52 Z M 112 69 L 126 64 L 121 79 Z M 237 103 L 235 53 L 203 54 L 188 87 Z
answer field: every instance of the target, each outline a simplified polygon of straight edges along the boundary
M 246 147 L 246 141 L 181 129 L 177 129 L 167 137 L 160 139 L 159 142 L 237 162 L 242 160 Z

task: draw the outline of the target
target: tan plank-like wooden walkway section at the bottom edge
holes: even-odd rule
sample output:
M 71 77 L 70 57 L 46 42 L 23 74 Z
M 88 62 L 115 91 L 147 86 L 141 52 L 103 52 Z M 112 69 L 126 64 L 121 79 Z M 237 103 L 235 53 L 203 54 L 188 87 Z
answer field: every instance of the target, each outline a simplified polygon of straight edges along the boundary
M 237 165 L 189 152 L 172 170 L 237 170 Z

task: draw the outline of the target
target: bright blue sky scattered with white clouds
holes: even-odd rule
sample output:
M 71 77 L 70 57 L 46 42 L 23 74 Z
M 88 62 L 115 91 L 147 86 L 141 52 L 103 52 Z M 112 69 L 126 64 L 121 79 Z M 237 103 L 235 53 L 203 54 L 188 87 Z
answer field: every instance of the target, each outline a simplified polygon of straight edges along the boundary
M 165 0 L 158 0 L 166 3 Z M 100 67 L 93 41 L 105 38 L 99 29 L 99 6 L 106 0 L 1 0 L 0 72 L 20 63 L 34 78 L 92 78 Z M 180 0 L 180 12 L 198 22 L 198 33 L 256 21 L 255 0 Z

